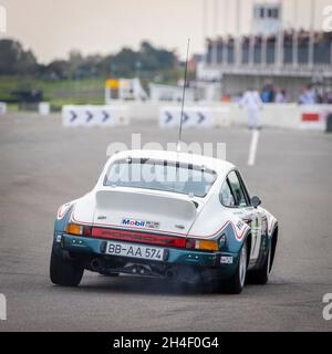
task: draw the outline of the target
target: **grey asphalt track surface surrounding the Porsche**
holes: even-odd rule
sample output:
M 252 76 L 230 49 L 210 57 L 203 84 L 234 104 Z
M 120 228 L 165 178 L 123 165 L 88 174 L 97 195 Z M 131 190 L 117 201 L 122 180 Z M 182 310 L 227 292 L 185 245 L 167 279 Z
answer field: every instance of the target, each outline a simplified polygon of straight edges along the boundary
M 332 135 L 263 129 L 248 166 L 245 127 L 184 131 L 186 140 L 225 142 L 249 191 L 280 222 L 274 269 L 240 295 L 183 291 L 170 281 L 85 273 L 77 289 L 49 280 L 58 207 L 96 181 L 112 142 L 174 142 L 154 122 L 62 128 L 60 116 L 0 117 L 0 331 L 331 331 L 322 296 L 332 292 Z

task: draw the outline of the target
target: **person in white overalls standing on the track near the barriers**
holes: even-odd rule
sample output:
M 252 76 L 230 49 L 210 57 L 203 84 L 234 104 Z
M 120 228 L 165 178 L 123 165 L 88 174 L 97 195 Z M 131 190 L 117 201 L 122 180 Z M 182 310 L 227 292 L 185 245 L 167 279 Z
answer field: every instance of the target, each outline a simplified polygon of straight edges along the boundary
M 257 90 L 249 88 L 245 92 L 242 98 L 240 100 L 240 107 L 242 108 L 243 106 L 246 106 L 248 110 L 249 129 L 260 129 L 261 125 L 259 123 L 259 110 L 263 107 L 263 103 Z

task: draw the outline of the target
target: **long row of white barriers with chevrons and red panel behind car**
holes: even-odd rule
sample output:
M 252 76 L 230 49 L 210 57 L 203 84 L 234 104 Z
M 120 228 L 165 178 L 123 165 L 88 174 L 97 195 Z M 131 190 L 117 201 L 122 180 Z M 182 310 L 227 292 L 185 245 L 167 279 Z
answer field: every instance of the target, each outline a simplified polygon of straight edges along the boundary
M 259 112 L 262 126 L 324 131 L 326 117 L 332 114 L 332 105 L 266 104 Z M 159 127 L 177 127 L 180 105 L 154 102 L 125 102 L 123 105 L 64 106 L 64 126 L 116 126 L 129 121 L 155 121 Z M 185 104 L 183 126 L 195 128 L 246 125 L 247 110 L 237 103 Z

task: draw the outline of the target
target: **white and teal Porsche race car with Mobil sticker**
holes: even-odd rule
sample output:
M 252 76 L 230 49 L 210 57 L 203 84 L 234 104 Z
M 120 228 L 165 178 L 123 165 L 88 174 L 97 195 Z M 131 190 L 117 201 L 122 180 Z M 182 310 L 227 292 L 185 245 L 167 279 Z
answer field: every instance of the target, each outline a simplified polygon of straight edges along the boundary
M 193 154 L 126 150 L 96 186 L 60 207 L 51 281 L 79 285 L 84 270 L 212 282 L 240 293 L 271 271 L 276 218 L 249 197 L 228 162 Z

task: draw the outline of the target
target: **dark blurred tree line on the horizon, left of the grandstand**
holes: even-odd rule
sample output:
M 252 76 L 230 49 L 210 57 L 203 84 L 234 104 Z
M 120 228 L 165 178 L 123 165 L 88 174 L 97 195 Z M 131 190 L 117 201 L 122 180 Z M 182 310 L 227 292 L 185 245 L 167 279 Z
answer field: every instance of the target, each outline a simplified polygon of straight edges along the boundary
M 49 64 L 39 63 L 31 50 L 24 50 L 19 41 L 0 40 L 0 75 L 24 75 L 43 80 L 72 80 L 101 76 L 135 75 L 149 76 L 160 71 L 176 70 L 179 60 L 175 51 L 141 43 L 134 51 L 123 48 L 108 55 L 82 55 L 72 51 L 66 60 L 54 60 Z

